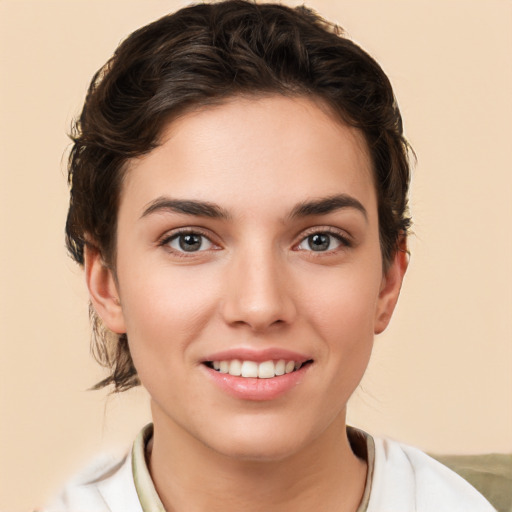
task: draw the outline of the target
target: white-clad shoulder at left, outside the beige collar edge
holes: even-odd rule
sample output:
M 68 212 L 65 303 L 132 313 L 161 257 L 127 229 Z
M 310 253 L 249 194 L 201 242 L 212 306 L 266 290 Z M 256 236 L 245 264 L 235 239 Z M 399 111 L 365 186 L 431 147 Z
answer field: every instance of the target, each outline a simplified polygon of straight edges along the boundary
M 68 481 L 41 512 L 142 512 L 131 470 L 131 455 L 101 456 Z

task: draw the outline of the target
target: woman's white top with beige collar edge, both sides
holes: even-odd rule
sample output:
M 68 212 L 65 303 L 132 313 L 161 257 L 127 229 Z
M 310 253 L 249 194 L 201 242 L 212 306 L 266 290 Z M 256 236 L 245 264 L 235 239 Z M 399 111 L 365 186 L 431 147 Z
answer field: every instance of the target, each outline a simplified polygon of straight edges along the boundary
M 145 461 L 151 435 L 148 425 L 125 458 L 96 461 L 41 512 L 165 512 Z M 350 427 L 348 435 L 357 455 L 361 439 L 366 442 L 368 475 L 357 512 L 496 512 L 463 478 L 420 450 Z

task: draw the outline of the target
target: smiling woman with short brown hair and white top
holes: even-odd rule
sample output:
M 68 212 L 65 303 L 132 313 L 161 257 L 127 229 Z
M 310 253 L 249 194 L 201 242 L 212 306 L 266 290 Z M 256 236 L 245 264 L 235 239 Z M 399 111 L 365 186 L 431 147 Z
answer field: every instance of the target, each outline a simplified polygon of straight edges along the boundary
M 46 510 L 493 510 L 346 404 L 407 268 L 408 145 L 377 63 L 305 8 L 132 34 L 94 77 L 68 247 L 99 359 L 153 425 Z

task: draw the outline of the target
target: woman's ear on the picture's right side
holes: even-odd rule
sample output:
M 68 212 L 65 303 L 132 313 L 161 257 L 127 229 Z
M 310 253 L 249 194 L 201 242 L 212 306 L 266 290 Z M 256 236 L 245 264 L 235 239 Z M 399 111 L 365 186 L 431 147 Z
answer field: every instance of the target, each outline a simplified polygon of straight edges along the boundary
M 407 251 L 407 238 L 403 237 L 393 261 L 382 277 L 375 311 L 375 334 L 380 334 L 384 331 L 391 320 L 408 265 L 409 253 Z

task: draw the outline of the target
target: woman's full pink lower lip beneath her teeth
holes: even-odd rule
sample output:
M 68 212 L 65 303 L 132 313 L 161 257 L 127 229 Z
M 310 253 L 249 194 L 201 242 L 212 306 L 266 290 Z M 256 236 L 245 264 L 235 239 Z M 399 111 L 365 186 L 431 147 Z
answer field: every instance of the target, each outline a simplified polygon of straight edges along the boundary
M 279 375 L 270 379 L 256 379 L 251 377 L 236 377 L 229 373 L 221 373 L 217 370 L 202 365 L 210 379 L 235 398 L 241 400 L 274 400 L 297 386 L 308 371 L 311 364 L 302 366 L 298 370 Z

